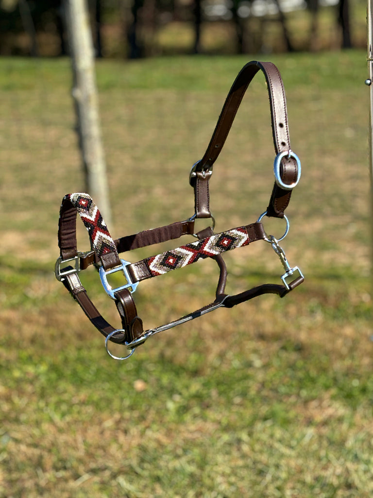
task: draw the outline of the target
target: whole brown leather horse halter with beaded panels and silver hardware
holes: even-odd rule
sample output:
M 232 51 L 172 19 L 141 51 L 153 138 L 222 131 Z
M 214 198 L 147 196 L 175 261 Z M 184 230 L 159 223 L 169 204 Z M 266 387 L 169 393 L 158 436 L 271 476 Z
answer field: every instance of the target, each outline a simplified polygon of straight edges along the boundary
M 266 77 L 270 98 L 273 140 L 276 151 L 275 185 L 267 210 L 255 223 L 214 234 L 214 219 L 209 208 L 209 180 L 212 175 L 212 166 L 228 136 L 246 89 L 259 70 Z M 189 183 L 194 189 L 194 215 L 186 221 L 113 240 L 91 197 L 84 193 L 68 194 L 63 198 L 60 209 L 58 230 L 60 257 L 56 261 L 56 278 L 65 285 L 92 324 L 105 336 L 106 351 L 117 360 L 129 358 L 135 349 L 150 336 L 186 323 L 217 308 L 232 308 L 236 304 L 267 293 L 283 297 L 302 283 L 304 279 L 298 267 L 289 265 L 285 253 L 279 245 L 279 241 L 286 236 L 289 228 L 284 210 L 289 203 L 292 189 L 299 181 L 300 172 L 299 158 L 290 149 L 285 93 L 280 73 L 271 62 L 249 62 L 242 68 L 233 83 L 204 156 L 191 169 Z M 77 214 L 80 215 L 90 236 L 92 250 L 89 252 L 83 253 L 77 250 Z M 261 223 L 264 216 L 285 219 L 286 230 L 279 240 L 266 234 Z M 194 223 L 196 219 L 200 218 L 210 219 L 211 227 L 195 234 Z M 183 235 L 195 236 L 197 240 L 135 263 L 130 263 L 119 257 L 121 252 L 178 239 Z M 263 284 L 239 294 L 225 294 L 227 270 L 222 253 L 248 246 L 258 240 L 270 243 L 280 257 L 284 268 L 284 273 L 281 276 L 282 284 Z M 139 282 L 207 257 L 215 259 L 220 270 L 214 301 L 178 320 L 144 331 L 142 320 L 137 314 L 133 300 L 133 293 Z M 103 288 L 115 302 L 122 322 L 121 329 L 112 327 L 100 315 L 79 279 L 79 271 L 88 268 L 91 264 L 98 268 Z M 108 275 L 115 272 L 123 274 L 124 283 L 117 288 L 112 288 L 108 282 Z M 127 355 L 116 357 L 111 354 L 108 349 L 109 341 L 123 344 L 127 348 Z

